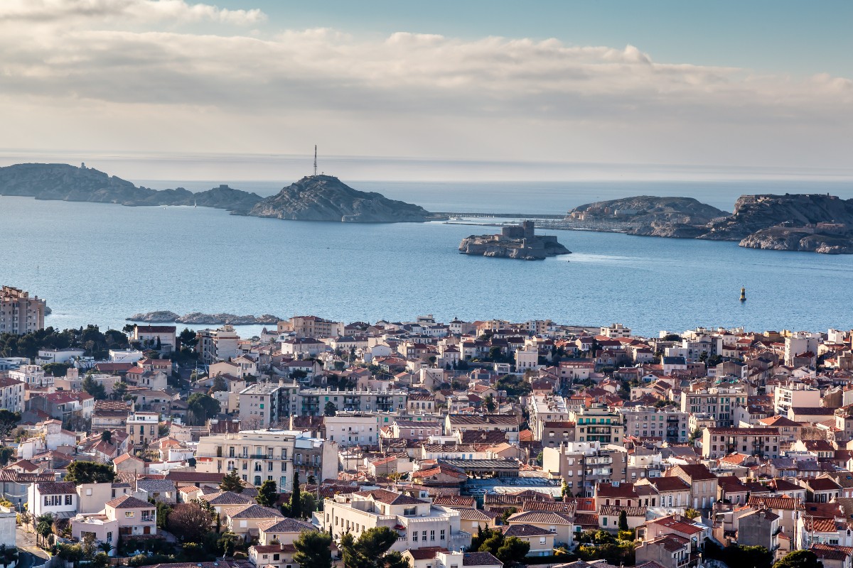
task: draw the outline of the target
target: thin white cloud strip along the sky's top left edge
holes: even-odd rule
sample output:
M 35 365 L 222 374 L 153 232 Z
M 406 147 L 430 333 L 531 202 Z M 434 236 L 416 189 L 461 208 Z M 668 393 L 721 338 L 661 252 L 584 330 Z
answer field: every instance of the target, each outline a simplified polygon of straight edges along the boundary
M 259 9 L 229 10 L 184 0 L 3 0 L 0 20 L 61 22 L 78 20 L 125 20 L 172 23 L 212 21 L 247 26 L 264 21 Z

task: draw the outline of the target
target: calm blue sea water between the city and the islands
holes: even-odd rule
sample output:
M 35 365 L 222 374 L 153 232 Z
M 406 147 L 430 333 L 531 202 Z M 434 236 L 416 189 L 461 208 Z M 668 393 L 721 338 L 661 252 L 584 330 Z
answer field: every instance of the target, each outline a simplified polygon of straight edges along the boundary
M 489 193 L 482 184 L 467 190 L 457 185 L 455 191 L 447 184 L 437 184 L 440 191 L 436 184 L 411 184 L 408 191 L 384 183 L 353 185 L 438 210 L 540 212 L 547 204 L 565 210 L 596 198 L 651 192 L 643 184 L 605 184 L 597 193 L 588 188 L 557 195 L 558 187 L 545 184 L 497 204 L 495 196 L 511 193 L 510 186 L 496 184 Z M 771 191 L 755 186 L 753 191 Z M 739 190 L 718 186 L 718 192 L 731 202 L 729 194 Z M 553 318 L 566 324 L 621 322 L 647 334 L 696 325 L 853 326 L 845 299 L 853 256 L 595 232 L 552 232 L 574 254 L 540 262 L 456 251 L 462 237 L 492 230 L 279 221 L 216 209 L 0 197 L 0 282 L 46 298 L 54 310 L 47 324 L 60 328 L 121 327 L 133 313 L 160 309 L 315 313 L 345 321 L 422 313 L 444 320 Z M 749 295 L 744 304 L 738 301 L 741 285 Z

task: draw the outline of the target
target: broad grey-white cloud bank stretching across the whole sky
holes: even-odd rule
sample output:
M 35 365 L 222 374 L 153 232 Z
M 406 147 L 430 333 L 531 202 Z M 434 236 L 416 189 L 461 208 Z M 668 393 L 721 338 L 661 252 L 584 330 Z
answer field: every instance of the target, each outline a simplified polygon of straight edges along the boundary
M 81 121 L 107 138 L 123 129 L 119 142 L 136 147 L 156 140 L 156 123 L 176 144 L 222 150 L 264 151 L 317 131 L 373 155 L 784 163 L 817 147 L 827 160 L 850 150 L 845 77 L 767 76 L 556 39 L 171 27 L 263 17 L 181 0 L 0 3 L 0 119 L 58 123 L 61 140 Z M 126 134 L 134 129 L 144 141 Z

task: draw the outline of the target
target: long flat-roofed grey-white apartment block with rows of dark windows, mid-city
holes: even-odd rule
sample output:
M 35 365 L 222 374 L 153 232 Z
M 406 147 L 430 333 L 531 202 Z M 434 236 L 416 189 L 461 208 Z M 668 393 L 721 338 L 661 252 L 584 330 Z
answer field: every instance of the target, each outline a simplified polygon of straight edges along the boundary
M 301 416 L 322 416 L 326 404 L 335 411 L 345 412 L 403 412 L 406 410 L 408 391 L 399 388 L 374 389 L 360 387 L 339 390 L 330 387 L 304 388 L 297 393 L 297 408 Z

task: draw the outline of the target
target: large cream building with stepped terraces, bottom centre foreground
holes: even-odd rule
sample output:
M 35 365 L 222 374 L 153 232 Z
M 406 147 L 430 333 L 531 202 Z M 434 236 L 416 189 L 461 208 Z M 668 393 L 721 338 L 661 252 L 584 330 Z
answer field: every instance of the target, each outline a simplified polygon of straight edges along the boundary
M 316 513 L 323 531 L 339 540 L 346 532 L 358 538 L 363 531 L 387 526 L 397 531 L 392 550 L 442 547 L 460 550 L 471 544 L 471 533 L 461 530 L 458 511 L 433 505 L 426 491 L 413 497 L 377 489 L 339 494 L 323 502 Z

